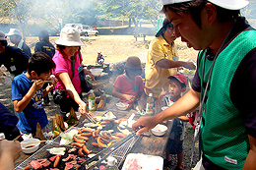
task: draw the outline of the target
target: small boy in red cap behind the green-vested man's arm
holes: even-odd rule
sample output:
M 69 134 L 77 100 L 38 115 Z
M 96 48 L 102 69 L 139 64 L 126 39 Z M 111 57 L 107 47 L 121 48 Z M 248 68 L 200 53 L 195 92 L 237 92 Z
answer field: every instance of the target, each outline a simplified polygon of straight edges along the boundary
M 159 95 L 159 102 L 161 106 L 171 106 L 181 97 L 181 92 L 186 90 L 187 79 L 182 74 L 176 74 L 169 76 L 168 94 L 166 91 L 161 91 Z M 185 122 L 188 122 L 189 118 L 186 116 L 180 116 L 173 119 L 172 129 L 166 145 L 164 160 L 164 166 L 168 166 L 171 163 L 170 154 L 177 154 L 177 165 L 175 170 L 183 169 L 182 161 L 184 157 L 183 140 L 185 135 Z

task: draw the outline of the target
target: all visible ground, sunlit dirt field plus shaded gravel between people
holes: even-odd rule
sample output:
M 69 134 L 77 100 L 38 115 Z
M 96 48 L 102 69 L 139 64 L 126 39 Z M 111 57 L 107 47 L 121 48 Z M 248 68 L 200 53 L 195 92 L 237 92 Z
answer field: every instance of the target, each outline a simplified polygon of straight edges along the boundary
M 54 44 L 54 41 L 58 37 L 50 37 L 51 42 Z M 144 58 L 147 56 L 148 47 L 150 41 L 154 38 L 154 36 L 147 36 L 146 41 L 143 38 L 138 38 L 138 41 L 135 40 L 133 36 L 129 35 L 100 35 L 100 36 L 89 36 L 89 37 L 82 37 L 82 41 L 84 42 L 84 46 L 82 47 L 82 55 L 84 58 L 84 64 L 94 64 L 96 60 L 96 51 L 101 50 L 103 55 L 107 55 L 105 59 L 105 63 L 115 63 L 119 60 L 123 60 L 128 58 L 129 56 L 143 56 Z M 31 47 L 32 52 L 34 49 L 34 45 L 37 41 L 37 37 L 27 37 L 26 42 Z M 188 60 L 192 59 L 196 61 L 197 51 L 193 49 L 188 49 L 186 44 L 181 42 L 180 39 L 176 39 L 176 44 L 178 47 L 178 53 L 180 60 Z M 7 72 L 5 71 L 4 67 L 0 68 L 0 102 L 3 103 L 12 113 L 14 113 L 13 105 L 11 101 L 11 85 L 6 85 L 5 78 Z M 3 73 L 5 75 L 3 75 Z M 111 87 L 114 83 L 115 77 L 105 77 L 105 79 L 97 80 L 94 83 L 97 87 L 103 87 L 107 94 L 111 95 Z M 56 112 L 56 105 L 52 100 L 52 96 L 50 96 L 51 105 L 45 107 L 45 112 L 48 116 L 49 120 L 49 127 L 51 126 L 51 119 L 55 118 Z M 85 98 L 87 96 L 85 95 Z M 190 155 L 191 155 L 191 148 L 193 142 L 193 132 L 194 130 L 192 127 L 187 124 L 186 127 L 186 135 L 185 140 L 183 142 L 184 148 L 184 160 L 183 165 L 184 169 L 190 169 Z M 195 165 L 196 161 L 198 161 L 198 142 L 196 142 L 195 148 L 195 158 L 193 161 L 193 165 Z M 176 156 L 173 157 L 172 165 L 167 169 L 174 169 L 176 165 Z

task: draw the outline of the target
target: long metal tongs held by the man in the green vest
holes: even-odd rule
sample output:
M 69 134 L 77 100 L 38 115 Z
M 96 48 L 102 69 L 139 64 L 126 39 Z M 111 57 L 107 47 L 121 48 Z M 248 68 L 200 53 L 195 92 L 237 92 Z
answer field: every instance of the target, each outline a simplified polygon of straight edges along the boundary
M 139 127 L 135 132 L 132 132 L 130 135 L 126 136 L 125 138 L 123 138 L 122 140 L 120 140 L 119 142 L 115 142 L 113 144 L 111 144 L 110 146 L 108 146 L 107 148 L 99 151 L 95 156 L 91 157 L 90 159 L 88 159 L 87 161 L 85 161 L 83 163 L 83 165 L 87 165 L 90 162 L 94 161 L 102 152 L 108 151 L 104 156 L 102 156 L 99 160 L 96 161 L 95 164 L 91 165 L 88 170 L 93 170 L 97 165 L 99 165 L 103 160 L 105 160 L 111 153 L 113 153 L 115 150 L 117 150 L 118 148 L 120 148 L 122 145 L 124 145 L 126 142 L 128 142 L 130 139 L 134 138 L 137 134 L 137 132 L 141 129 L 141 127 Z M 82 166 L 83 166 L 82 165 Z

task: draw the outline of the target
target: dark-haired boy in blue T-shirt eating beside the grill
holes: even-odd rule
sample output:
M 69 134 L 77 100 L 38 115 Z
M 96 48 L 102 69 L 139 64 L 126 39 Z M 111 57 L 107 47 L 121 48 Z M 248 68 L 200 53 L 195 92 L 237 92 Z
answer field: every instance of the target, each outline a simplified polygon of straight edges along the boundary
M 55 63 L 47 54 L 35 52 L 29 59 L 27 72 L 15 77 L 12 82 L 12 100 L 20 118 L 17 127 L 22 133 L 35 134 L 37 123 L 41 129 L 48 124 L 41 99 L 56 85 L 57 79 L 45 89 L 42 86 L 54 68 Z

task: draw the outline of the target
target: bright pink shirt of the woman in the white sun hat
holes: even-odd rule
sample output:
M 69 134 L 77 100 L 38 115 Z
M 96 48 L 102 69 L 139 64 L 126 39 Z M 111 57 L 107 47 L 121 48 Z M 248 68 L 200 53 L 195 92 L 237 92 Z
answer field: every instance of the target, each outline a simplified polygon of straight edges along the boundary
M 64 56 L 63 54 L 61 54 L 59 52 L 59 50 L 56 50 L 56 53 L 54 54 L 52 60 L 54 61 L 54 63 L 56 64 L 56 68 L 55 70 L 52 71 L 52 74 L 56 76 L 56 78 L 58 79 L 58 83 L 55 85 L 55 89 L 64 89 L 65 85 L 63 85 L 63 83 L 61 82 L 61 80 L 59 79 L 59 77 L 57 76 L 58 73 L 68 73 L 70 79 L 72 78 L 72 60 L 70 57 L 68 56 Z M 83 59 L 82 59 L 83 61 Z M 81 62 L 82 62 L 81 61 Z M 72 84 L 74 85 L 74 87 L 76 88 L 77 92 L 80 93 L 82 91 L 81 89 L 81 83 L 80 83 L 80 78 L 79 78 L 79 74 L 78 74 L 78 68 L 81 66 L 80 64 L 80 58 L 78 53 L 75 55 L 75 59 L 74 59 L 74 78 L 72 79 Z

